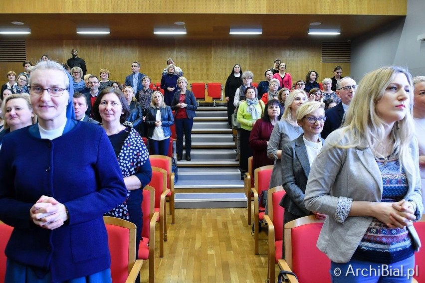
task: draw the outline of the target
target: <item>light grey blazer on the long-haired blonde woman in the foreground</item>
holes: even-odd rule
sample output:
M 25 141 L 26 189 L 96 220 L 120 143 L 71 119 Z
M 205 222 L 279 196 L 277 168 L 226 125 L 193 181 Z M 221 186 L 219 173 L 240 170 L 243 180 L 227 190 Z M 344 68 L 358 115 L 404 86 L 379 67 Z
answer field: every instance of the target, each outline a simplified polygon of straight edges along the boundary
M 317 248 L 331 261 L 347 263 L 357 249 L 373 217 L 348 216 L 351 200 L 380 202 L 382 177 L 375 156 L 369 147 L 338 148 L 333 144 L 347 144 L 351 133 L 342 129 L 332 132 L 313 162 L 307 182 L 304 203 L 308 210 L 327 214 L 328 217 L 317 241 Z M 341 141 L 340 137 L 343 137 Z M 418 143 L 410 144 L 414 164 L 418 164 Z M 406 176 L 409 183 L 404 198 L 415 202 L 415 215 L 420 219 L 424 210 L 421 196 L 419 166 Z M 421 242 L 413 226 L 408 227 L 415 249 Z

